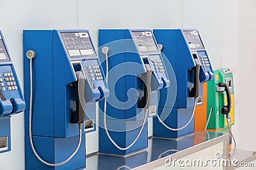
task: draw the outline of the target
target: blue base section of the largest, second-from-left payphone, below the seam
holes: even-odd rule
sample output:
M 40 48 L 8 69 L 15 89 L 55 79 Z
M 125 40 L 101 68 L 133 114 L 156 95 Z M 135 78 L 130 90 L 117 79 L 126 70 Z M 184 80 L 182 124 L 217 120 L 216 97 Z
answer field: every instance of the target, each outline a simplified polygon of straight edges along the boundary
M 46 162 L 56 164 L 66 160 L 76 150 L 79 142 L 79 136 L 70 138 L 49 138 L 42 136 L 33 136 L 33 143 L 38 155 Z M 84 146 L 83 146 L 84 145 Z M 83 169 L 85 168 L 85 135 L 82 136 L 81 147 L 76 155 L 62 166 L 51 167 L 38 160 L 31 149 L 29 136 L 25 136 L 25 166 L 27 170 L 63 170 L 63 169 Z

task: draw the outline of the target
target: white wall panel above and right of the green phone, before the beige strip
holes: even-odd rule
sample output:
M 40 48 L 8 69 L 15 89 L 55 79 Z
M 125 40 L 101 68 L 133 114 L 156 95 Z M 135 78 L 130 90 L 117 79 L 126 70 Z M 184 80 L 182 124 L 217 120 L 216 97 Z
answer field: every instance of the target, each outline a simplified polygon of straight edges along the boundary
M 255 6 L 254 6 L 255 7 Z M 211 59 L 213 69 L 229 67 L 234 74 L 235 124 L 237 145 L 244 142 L 239 124 L 239 0 L 184 0 L 183 27 L 195 27 L 200 31 Z M 244 123 L 244 122 L 243 122 Z M 247 134 L 246 134 L 247 135 Z

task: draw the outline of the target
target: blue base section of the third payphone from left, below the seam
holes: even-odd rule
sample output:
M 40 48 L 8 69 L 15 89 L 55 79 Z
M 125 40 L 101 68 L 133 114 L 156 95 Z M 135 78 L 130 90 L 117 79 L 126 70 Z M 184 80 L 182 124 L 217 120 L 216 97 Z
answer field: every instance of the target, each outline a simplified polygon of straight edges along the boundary
M 140 132 L 141 125 L 143 120 L 137 121 L 127 121 L 127 120 L 106 120 L 108 132 L 111 138 L 115 141 L 115 143 L 125 148 L 134 141 L 138 133 Z M 109 140 L 105 129 L 103 128 L 103 120 L 100 119 L 100 128 L 99 128 L 99 152 L 107 153 L 111 155 L 130 155 L 132 153 L 140 152 L 141 150 L 145 150 L 148 146 L 148 123 L 145 124 L 140 137 L 131 146 L 131 148 L 127 150 L 119 150 L 116 148 L 113 143 Z M 136 128 L 136 129 L 134 129 Z

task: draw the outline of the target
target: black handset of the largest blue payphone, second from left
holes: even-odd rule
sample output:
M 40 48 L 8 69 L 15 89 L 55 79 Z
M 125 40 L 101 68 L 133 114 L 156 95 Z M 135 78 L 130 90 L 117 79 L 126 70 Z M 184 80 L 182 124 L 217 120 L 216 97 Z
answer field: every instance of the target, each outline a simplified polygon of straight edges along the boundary
M 70 120 L 70 124 L 82 124 L 85 120 L 85 99 L 84 99 L 84 74 L 76 71 L 77 81 L 72 83 L 76 87 L 76 110 Z M 81 94 L 81 96 L 79 96 Z M 82 105 L 83 104 L 83 105 Z

